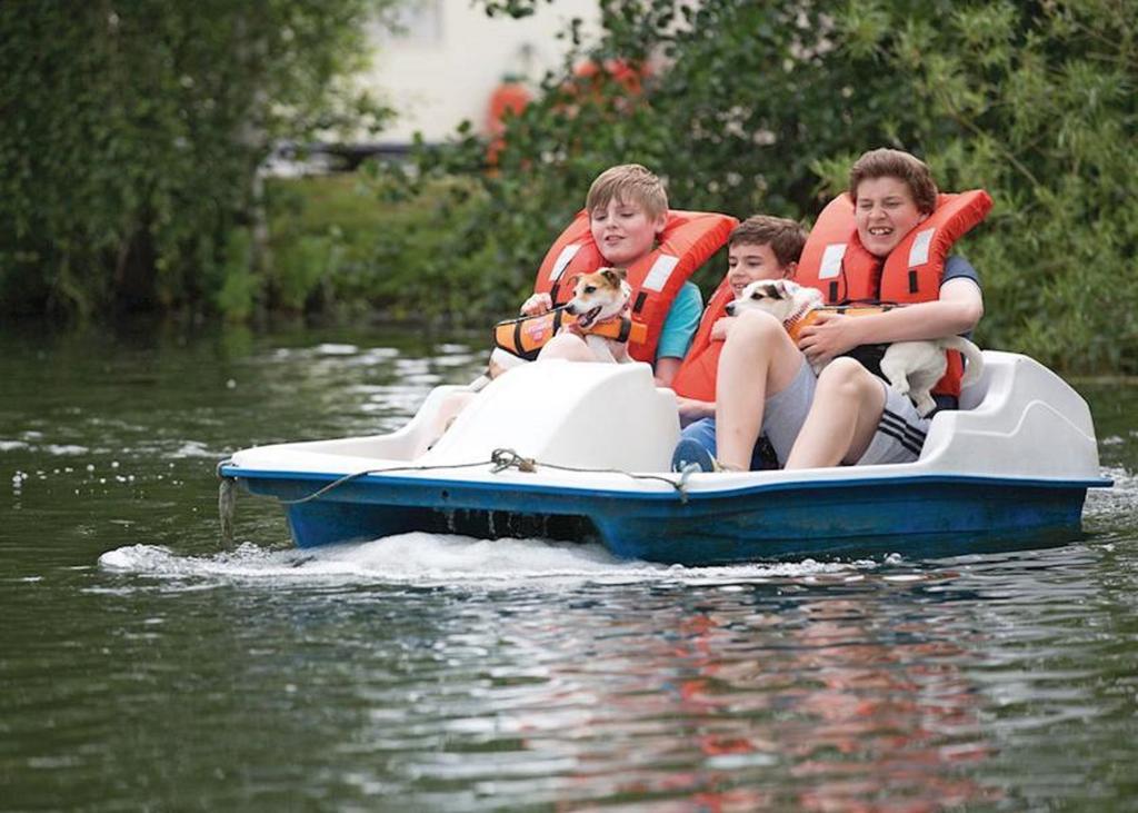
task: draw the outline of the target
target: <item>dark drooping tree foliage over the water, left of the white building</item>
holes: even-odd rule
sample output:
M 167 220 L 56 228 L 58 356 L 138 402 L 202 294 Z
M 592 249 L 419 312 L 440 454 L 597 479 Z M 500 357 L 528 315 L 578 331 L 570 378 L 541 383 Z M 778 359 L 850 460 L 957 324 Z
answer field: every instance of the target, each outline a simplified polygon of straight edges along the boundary
M 277 139 L 387 116 L 338 79 L 390 5 L 0 3 L 0 310 L 271 296 L 256 167 Z

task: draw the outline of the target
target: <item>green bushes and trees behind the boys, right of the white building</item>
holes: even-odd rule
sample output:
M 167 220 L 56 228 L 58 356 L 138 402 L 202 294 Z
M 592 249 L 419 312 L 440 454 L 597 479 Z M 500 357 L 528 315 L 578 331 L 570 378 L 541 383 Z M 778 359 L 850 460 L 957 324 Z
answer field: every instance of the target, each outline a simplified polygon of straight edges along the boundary
M 542 3 L 485 6 L 525 15 Z M 943 189 L 996 198 L 962 243 L 986 285 L 982 342 L 1065 369 L 1138 372 L 1132 0 L 601 7 L 602 40 L 585 51 L 569 32 L 578 47 L 509 122 L 493 172 L 469 131 L 420 155 L 419 182 L 473 180 L 437 204 L 447 237 L 419 265 L 436 298 L 418 305 L 504 312 L 609 165 L 654 169 L 679 207 L 809 221 L 858 154 L 892 146 L 926 159 Z M 575 75 L 584 58 L 642 71 L 641 92 Z M 378 176 L 388 194 L 413 194 L 406 178 Z M 409 230 L 380 249 L 426 248 L 414 240 Z M 461 296 L 439 299 L 447 286 Z

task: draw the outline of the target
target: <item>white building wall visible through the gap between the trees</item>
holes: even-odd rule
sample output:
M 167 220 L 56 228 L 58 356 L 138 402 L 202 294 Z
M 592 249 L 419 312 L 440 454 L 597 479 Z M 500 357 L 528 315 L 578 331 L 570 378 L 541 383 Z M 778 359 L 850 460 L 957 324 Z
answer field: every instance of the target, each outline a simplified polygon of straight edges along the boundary
M 470 0 L 414 0 L 405 13 L 406 33 L 376 34 L 377 55 L 362 79 L 398 113 L 381 139 L 407 143 L 421 131 L 428 142 L 452 136 L 464 118 L 481 132 L 490 93 L 506 74 L 531 88 L 568 50 L 556 34 L 574 17 L 584 31 L 600 27 L 597 0 L 538 3 L 536 14 L 512 19 L 487 17 Z

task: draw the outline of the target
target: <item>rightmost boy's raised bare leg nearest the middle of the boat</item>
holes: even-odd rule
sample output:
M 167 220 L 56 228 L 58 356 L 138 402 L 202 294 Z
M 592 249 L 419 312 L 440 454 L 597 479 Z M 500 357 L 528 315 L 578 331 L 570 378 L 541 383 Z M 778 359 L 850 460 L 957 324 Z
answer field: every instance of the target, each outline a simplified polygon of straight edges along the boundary
M 801 366 L 802 354 L 782 322 L 760 311 L 739 317 L 716 376 L 716 455 L 724 468 L 750 468 L 764 401 L 790 386 Z

